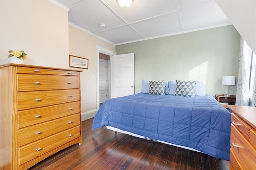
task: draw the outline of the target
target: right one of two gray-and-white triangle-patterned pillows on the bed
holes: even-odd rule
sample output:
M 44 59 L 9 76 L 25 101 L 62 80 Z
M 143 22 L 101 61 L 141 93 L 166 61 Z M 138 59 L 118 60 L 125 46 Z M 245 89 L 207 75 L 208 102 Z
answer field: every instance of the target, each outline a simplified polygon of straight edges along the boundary
M 176 80 L 176 90 L 174 96 L 195 96 L 196 81 Z

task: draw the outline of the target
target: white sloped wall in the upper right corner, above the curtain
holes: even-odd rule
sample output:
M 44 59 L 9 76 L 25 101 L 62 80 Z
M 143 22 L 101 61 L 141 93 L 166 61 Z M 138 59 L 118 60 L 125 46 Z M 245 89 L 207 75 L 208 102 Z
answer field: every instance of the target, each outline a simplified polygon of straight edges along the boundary
M 256 0 L 215 0 L 220 9 L 256 52 Z

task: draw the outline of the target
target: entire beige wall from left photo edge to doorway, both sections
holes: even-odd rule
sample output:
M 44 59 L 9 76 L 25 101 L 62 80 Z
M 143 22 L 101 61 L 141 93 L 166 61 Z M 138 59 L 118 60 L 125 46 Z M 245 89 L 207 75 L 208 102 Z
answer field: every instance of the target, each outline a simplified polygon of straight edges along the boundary
M 68 11 L 48 0 L 0 0 L 0 64 L 9 62 L 9 50 L 24 50 L 24 64 L 38 66 L 78 69 L 69 67 L 68 55 L 89 59 L 88 70 L 78 69 L 82 113 L 97 109 L 96 45 L 115 51 L 115 45 L 68 25 Z

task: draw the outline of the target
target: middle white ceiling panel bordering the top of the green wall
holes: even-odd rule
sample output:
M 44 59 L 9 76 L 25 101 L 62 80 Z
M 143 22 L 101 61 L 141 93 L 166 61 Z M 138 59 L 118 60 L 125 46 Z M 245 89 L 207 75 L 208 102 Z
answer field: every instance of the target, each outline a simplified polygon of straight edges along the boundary
M 177 12 L 139 21 L 130 25 L 146 38 L 182 31 Z

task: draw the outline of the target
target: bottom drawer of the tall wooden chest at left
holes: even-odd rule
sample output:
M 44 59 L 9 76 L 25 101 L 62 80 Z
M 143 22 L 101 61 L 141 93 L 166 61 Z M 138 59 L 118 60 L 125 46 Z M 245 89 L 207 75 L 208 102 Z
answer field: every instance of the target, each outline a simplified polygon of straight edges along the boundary
M 35 141 L 18 148 L 19 165 L 80 137 L 80 126 Z

